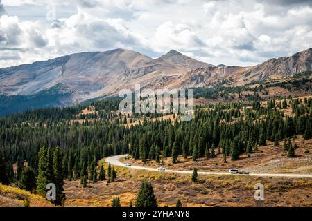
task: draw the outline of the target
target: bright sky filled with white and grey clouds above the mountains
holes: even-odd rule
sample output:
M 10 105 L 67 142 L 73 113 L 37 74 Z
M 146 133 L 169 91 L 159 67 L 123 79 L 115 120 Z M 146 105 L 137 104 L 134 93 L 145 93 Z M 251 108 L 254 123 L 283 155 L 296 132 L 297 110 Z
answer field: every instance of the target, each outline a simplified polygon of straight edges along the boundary
M 311 47 L 311 0 L 0 0 L 0 67 L 115 48 L 253 66 Z

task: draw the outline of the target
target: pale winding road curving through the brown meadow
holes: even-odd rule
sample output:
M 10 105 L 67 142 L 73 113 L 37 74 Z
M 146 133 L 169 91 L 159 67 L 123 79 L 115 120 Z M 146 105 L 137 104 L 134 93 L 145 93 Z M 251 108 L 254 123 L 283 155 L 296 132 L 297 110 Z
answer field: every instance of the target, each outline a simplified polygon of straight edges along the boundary
M 158 171 L 156 168 L 144 167 L 144 166 L 126 166 L 124 163 L 120 162 L 119 159 L 122 157 L 127 157 L 128 154 L 125 155 L 116 155 L 112 157 L 107 157 L 105 162 L 110 162 L 110 164 L 114 166 L 123 166 L 129 169 L 138 169 L 138 170 L 146 170 L 146 171 Z M 176 171 L 176 170 L 167 170 L 166 171 L 158 171 L 164 173 L 184 173 L 184 174 L 191 174 L 193 171 Z M 206 171 L 198 171 L 198 174 L 205 174 L 205 175 L 233 175 L 226 172 L 206 172 Z M 243 175 L 243 174 L 235 174 L 235 175 Z M 248 175 L 257 176 L 257 177 L 309 177 L 312 178 L 312 174 L 279 174 L 279 173 L 250 173 Z

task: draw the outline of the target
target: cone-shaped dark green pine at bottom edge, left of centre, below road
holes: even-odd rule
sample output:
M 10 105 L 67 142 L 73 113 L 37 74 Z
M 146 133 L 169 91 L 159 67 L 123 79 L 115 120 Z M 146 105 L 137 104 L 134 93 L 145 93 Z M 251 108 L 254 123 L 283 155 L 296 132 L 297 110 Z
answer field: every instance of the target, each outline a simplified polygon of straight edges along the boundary
M 137 200 L 135 200 L 135 206 L 148 208 L 157 207 L 153 186 L 148 180 L 143 180 L 137 195 Z

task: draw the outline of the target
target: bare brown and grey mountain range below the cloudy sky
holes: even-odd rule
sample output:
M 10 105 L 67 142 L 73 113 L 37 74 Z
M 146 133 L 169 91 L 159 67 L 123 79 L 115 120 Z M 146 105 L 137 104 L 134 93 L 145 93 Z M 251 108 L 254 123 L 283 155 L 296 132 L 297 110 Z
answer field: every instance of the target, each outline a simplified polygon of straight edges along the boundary
M 216 82 L 238 86 L 252 81 L 291 77 L 312 70 L 312 48 L 257 66 L 214 66 L 170 50 L 153 59 L 115 49 L 82 52 L 9 68 L 0 68 L 0 115 L 28 108 L 67 106 L 116 95 L 121 88 L 209 87 Z

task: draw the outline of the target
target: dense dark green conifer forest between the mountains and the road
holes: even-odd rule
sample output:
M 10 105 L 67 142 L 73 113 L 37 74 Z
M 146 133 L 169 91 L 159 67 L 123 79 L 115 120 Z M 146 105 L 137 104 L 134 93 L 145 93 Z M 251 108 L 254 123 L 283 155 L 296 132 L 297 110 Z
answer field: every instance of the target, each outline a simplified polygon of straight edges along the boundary
M 226 162 L 239 160 L 243 153 L 252 155 L 268 141 L 275 145 L 283 142 L 285 157 L 295 157 L 296 146 L 289 138 L 312 137 L 312 97 L 307 95 L 310 81 L 291 84 L 290 90 L 297 90 L 296 85 L 305 97 L 268 99 L 268 95 L 263 97 L 268 88 L 261 85 L 220 88 L 218 93 L 202 88 L 199 97 L 208 91 L 207 96 L 214 96 L 210 99 L 226 95 L 232 101 L 196 106 L 190 122 L 181 122 L 177 115 L 166 119 L 155 114 L 121 115 L 116 111 L 120 102 L 116 98 L 3 117 L 0 147 L 4 157 L 0 160 L 5 166 L 1 166 L 1 174 L 8 177 L 8 183 L 19 184 L 28 165 L 40 185 L 42 170 L 49 171 L 49 165 L 42 162 L 51 161 L 62 185 L 63 179 L 97 179 L 98 161 L 109 155 L 129 153 L 135 160 L 159 163 L 171 157 L 173 164 L 179 156 L 196 161 L 223 155 Z M 245 91 L 252 91 L 252 96 Z M 40 157 L 45 159 L 41 163 Z

